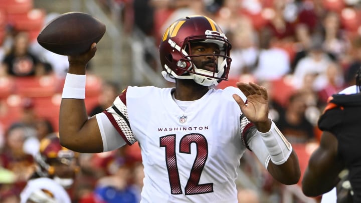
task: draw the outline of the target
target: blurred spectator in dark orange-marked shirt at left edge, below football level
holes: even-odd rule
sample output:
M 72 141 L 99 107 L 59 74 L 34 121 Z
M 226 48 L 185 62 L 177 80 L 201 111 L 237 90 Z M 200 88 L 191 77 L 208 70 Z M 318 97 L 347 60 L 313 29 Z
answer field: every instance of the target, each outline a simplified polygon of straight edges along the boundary
M 35 76 L 43 72 L 44 65 L 29 51 L 29 34 L 20 32 L 15 36 L 11 50 L 5 55 L 2 66 L 11 76 Z

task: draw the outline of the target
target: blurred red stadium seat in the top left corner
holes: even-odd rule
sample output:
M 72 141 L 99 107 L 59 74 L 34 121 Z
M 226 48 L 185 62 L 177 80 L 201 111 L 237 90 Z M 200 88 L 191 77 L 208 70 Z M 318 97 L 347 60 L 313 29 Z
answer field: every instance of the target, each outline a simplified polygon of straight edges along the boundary
M 0 9 L 8 14 L 28 13 L 34 7 L 34 0 L 1 0 Z

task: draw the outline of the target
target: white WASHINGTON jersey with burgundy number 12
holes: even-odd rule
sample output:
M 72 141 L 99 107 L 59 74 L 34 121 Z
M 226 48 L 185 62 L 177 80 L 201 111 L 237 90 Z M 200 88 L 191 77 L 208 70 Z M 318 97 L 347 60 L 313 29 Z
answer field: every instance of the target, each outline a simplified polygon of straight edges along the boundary
M 232 95 L 246 97 L 234 87 L 210 89 L 183 111 L 172 89 L 128 87 L 105 112 L 128 144 L 140 145 L 141 202 L 238 202 L 243 137 L 249 140 L 256 130 Z

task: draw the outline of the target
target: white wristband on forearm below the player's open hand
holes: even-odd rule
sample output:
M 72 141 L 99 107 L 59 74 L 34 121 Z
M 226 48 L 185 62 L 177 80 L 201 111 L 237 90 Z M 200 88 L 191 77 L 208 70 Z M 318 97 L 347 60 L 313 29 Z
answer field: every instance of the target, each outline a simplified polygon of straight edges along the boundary
M 272 162 L 277 165 L 286 162 L 291 155 L 292 145 L 283 136 L 276 124 L 272 121 L 271 129 L 268 132 L 259 133 L 271 156 Z

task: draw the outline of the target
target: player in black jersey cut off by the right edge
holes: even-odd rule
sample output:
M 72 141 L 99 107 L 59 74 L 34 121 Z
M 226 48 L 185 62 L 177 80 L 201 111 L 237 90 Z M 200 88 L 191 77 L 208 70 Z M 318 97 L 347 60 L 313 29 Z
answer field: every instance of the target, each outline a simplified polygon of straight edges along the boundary
M 337 202 L 361 202 L 360 76 L 359 70 L 356 85 L 329 97 L 318 120 L 323 133 L 302 179 L 307 196 L 327 193 L 323 197 L 333 194 Z

